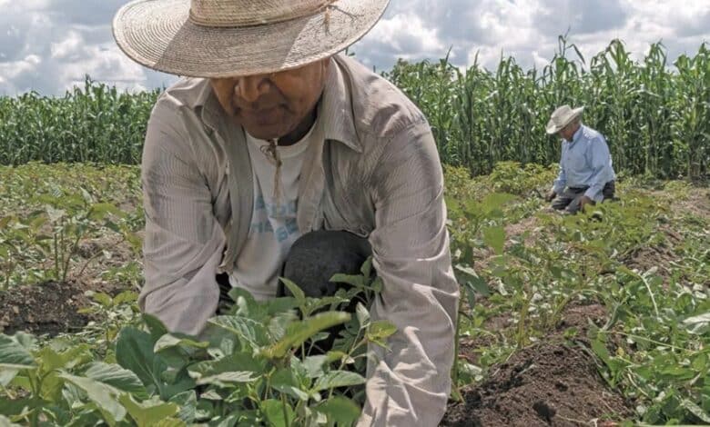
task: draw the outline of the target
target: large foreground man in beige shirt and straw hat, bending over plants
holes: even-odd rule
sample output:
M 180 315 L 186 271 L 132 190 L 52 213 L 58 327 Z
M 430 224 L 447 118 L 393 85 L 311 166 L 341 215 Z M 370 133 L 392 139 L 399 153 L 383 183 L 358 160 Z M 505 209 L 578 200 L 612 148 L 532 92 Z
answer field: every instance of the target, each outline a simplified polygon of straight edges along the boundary
M 421 112 L 338 55 L 388 2 L 136 0 L 118 11 L 128 56 L 188 76 L 147 127 L 139 304 L 198 334 L 220 285 L 264 300 L 289 260 L 327 282 L 332 265 L 357 268 L 371 253 L 383 290 L 370 314 L 398 332 L 389 350 L 370 347 L 359 425 L 433 426 L 459 299 L 441 164 Z

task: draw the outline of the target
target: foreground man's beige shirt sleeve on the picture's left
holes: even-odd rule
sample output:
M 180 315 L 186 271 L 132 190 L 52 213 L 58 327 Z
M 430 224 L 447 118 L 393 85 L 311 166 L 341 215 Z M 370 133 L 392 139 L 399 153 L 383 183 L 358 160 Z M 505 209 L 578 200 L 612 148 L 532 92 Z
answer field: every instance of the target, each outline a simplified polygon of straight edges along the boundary
M 226 239 L 212 212 L 178 107 L 158 100 L 142 160 L 146 283 L 138 304 L 173 332 L 196 335 L 215 313 Z

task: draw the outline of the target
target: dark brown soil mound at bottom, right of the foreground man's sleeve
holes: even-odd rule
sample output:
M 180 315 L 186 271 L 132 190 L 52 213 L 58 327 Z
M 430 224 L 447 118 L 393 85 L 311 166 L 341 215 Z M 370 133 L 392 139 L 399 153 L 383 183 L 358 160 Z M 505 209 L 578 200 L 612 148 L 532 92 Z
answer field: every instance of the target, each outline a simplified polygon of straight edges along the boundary
M 609 390 L 593 356 L 562 339 L 570 327 L 585 336 L 589 322 L 602 324 L 605 316 L 599 304 L 571 305 L 541 343 L 494 366 L 485 382 L 465 388 L 463 402 L 450 403 L 441 425 L 578 426 L 593 425 L 595 420 L 604 425 L 631 416 L 633 405 Z M 462 346 L 462 357 L 475 359 L 475 354 L 467 355 L 474 348 Z

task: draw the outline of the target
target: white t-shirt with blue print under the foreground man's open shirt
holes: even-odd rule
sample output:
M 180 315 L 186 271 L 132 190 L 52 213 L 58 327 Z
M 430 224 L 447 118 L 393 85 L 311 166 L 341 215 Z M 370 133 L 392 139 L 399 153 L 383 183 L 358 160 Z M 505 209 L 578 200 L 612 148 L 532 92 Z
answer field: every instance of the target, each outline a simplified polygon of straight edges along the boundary
M 279 201 L 274 198 L 276 164 L 267 150 L 269 142 L 247 134 L 254 175 L 254 209 L 247 242 L 229 274 L 229 283 L 246 289 L 258 301 L 276 296 L 281 266 L 291 245 L 300 237 L 296 222 L 299 177 L 316 127 L 314 124 L 298 143 L 277 147 L 281 159 Z

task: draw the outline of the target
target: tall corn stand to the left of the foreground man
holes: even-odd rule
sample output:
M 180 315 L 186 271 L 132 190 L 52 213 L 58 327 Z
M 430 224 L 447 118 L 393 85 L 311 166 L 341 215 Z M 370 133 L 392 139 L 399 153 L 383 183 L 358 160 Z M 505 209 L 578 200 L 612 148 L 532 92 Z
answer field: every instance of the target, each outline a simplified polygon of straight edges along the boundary
M 64 97 L 0 98 L 0 164 L 139 164 L 159 91 L 122 93 L 86 77 Z

